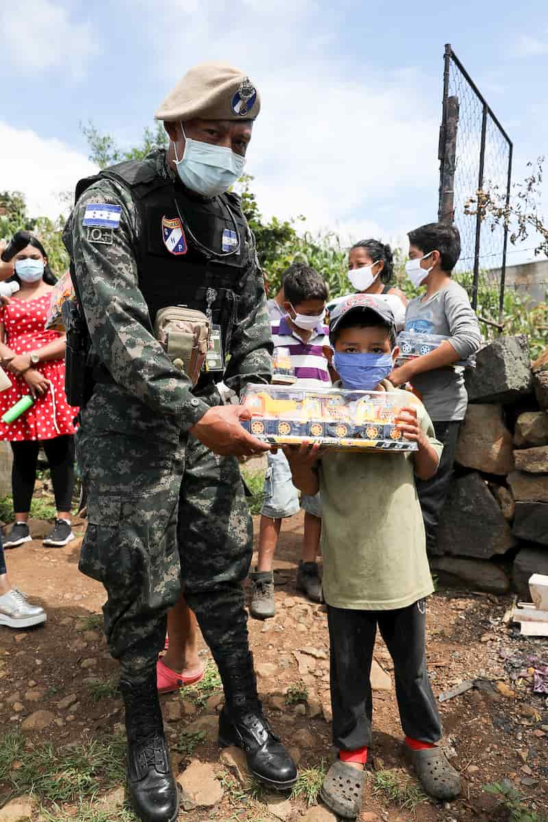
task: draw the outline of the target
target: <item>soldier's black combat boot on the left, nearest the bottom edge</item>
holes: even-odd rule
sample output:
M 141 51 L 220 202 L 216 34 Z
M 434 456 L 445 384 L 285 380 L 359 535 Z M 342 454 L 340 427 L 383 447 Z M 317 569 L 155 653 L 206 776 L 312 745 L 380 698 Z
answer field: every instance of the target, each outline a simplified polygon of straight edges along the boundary
M 156 672 L 144 685 L 120 682 L 126 706 L 127 792 L 141 822 L 175 822 L 179 795 L 163 736 Z

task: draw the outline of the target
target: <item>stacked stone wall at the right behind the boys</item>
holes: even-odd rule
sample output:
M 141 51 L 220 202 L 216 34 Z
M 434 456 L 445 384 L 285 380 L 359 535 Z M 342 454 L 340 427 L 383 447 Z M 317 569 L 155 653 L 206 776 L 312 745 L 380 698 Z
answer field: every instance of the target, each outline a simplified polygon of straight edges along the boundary
M 527 597 L 548 574 L 548 349 L 500 337 L 467 372 L 470 404 L 440 521 L 432 570 L 440 582 Z

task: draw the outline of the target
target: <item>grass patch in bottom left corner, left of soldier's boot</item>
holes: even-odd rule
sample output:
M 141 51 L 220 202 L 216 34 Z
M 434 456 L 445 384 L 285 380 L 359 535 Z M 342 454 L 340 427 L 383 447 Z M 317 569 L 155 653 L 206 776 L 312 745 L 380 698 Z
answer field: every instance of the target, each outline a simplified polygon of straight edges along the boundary
M 52 743 L 26 746 L 13 733 L 0 739 L 0 763 L 12 793 L 34 793 L 40 801 L 82 801 L 99 788 L 110 788 L 125 779 L 126 742 L 85 740 L 56 750 Z

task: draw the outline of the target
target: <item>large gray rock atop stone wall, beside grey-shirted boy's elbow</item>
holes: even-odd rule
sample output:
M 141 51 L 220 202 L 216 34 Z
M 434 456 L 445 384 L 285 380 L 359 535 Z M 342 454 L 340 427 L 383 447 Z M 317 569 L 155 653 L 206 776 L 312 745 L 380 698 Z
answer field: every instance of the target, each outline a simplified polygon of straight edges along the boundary
M 476 403 L 510 403 L 532 391 L 527 335 L 498 337 L 476 355 L 467 368 L 468 399 Z

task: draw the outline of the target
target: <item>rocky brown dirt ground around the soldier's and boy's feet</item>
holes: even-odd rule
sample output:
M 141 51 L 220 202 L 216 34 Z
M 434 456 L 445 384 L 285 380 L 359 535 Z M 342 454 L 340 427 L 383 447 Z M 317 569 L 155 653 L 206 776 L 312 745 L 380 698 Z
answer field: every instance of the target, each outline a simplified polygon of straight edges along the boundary
M 34 536 L 48 527 L 36 522 Z M 83 528 L 79 524 L 79 538 Z M 239 751 L 219 751 L 222 695 L 209 661 L 200 687 L 162 699 L 182 787 L 181 820 L 335 819 L 315 799 L 333 755 L 328 633 L 325 609 L 304 601 L 294 588 L 301 535 L 297 516 L 284 526 L 279 543 L 276 617 L 249 623 L 266 713 L 300 767 L 296 794 L 263 792 L 248 778 Z M 60 549 L 35 541 L 7 552 L 13 580 L 44 605 L 48 623 L 21 633 L 0 628 L 0 822 L 134 819 L 122 807 L 122 710 L 117 665 L 100 627 L 103 590 L 79 574 L 78 547 L 79 541 Z M 379 640 L 362 820 L 542 819 L 548 806 L 548 704 L 546 695 L 532 692 L 532 659 L 546 660 L 548 653 L 546 640 L 522 639 L 517 628 L 504 624 L 510 603 L 508 596 L 447 590 L 429 603 L 435 694 L 477 680 L 440 703 L 444 745 L 463 778 L 463 795 L 451 803 L 427 801 L 404 768 L 392 666 Z M 209 659 L 206 649 L 202 653 Z M 495 783 L 498 788 L 486 788 Z

